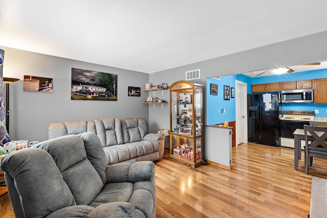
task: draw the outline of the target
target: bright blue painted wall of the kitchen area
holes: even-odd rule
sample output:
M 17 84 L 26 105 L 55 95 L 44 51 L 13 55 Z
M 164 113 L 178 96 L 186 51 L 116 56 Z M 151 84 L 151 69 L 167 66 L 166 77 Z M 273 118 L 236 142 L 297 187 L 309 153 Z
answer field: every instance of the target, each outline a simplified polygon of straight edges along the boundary
M 262 83 L 275 83 L 275 82 L 287 82 L 296 80 L 311 80 L 327 78 L 327 69 L 312 70 L 297 72 L 295 74 L 284 74 L 267 77 L 255 77 L 250 78 L 243 74 L 231 75 L 220 77 L 220 80 L 207 78 L 206 81 L 206 125 L 214 125 L 224 123 L 224 120 L 233 122 L 236 120 L 236 102 L 235 98 L 230 98 L 229 101 L 224 100 L 224 85 L 230 88 L 235 88 L 236 80 L 245 82 L 248 84 L 247 93 L 251 92 L 251 85 Z M 210 94 L 210 84 L 214 83 L 218 85 L 218 95 Z M 305 110 L 315 111 L 319 110 L 319 114 L 315 114 L 316 117 L 327 117 L 327 105 L 326 104 L 314 104 L 314 103 L 289 103 L 281 104 L 281 110 Z M 225 113 L 222 115 L 221 110 L 225 108 Z

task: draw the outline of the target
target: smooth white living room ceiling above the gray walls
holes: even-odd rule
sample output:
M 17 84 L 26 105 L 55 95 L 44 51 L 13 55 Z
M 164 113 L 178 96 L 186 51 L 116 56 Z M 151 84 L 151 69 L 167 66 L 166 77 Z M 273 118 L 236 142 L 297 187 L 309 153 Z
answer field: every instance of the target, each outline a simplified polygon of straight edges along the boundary
M 0 0 L 0 45 L 156 72 L 327 30 L 325 0 Z

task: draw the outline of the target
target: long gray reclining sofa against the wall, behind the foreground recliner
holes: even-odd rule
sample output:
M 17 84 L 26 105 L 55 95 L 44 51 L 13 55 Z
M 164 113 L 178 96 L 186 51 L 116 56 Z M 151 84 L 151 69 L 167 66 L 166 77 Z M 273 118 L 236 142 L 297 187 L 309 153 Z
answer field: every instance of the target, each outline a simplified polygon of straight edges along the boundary
M 161 159 L 165 150 L 163 134 L 149 133 L 144 118 L 102 118 L 75 120 L 49 125 L 49 139 L 91 132 L 100 138 L 107 164 Z

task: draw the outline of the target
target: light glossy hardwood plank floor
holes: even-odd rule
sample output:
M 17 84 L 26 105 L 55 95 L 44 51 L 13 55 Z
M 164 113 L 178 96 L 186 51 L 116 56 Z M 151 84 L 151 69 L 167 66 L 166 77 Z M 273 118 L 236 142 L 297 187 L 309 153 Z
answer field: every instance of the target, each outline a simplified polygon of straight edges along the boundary
M 243 143 L 232 151 L 233 169 L 195 169 L 167 158 L 155 162 L 157 217 L 307 217 L 312 176 L 327 179 L 327 160 L 298 171 L 294 150 Z M 8 195 L 0 217 L 14 217 Z

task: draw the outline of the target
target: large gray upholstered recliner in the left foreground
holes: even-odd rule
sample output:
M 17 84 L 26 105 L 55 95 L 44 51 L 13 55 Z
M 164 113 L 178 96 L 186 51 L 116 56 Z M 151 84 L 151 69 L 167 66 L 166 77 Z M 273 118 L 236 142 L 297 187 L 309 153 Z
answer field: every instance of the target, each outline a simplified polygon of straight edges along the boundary
M 154 163 L 107 166 L 94 133 L 43 141 L 0 167 L 16 217 L 155 217 Z

